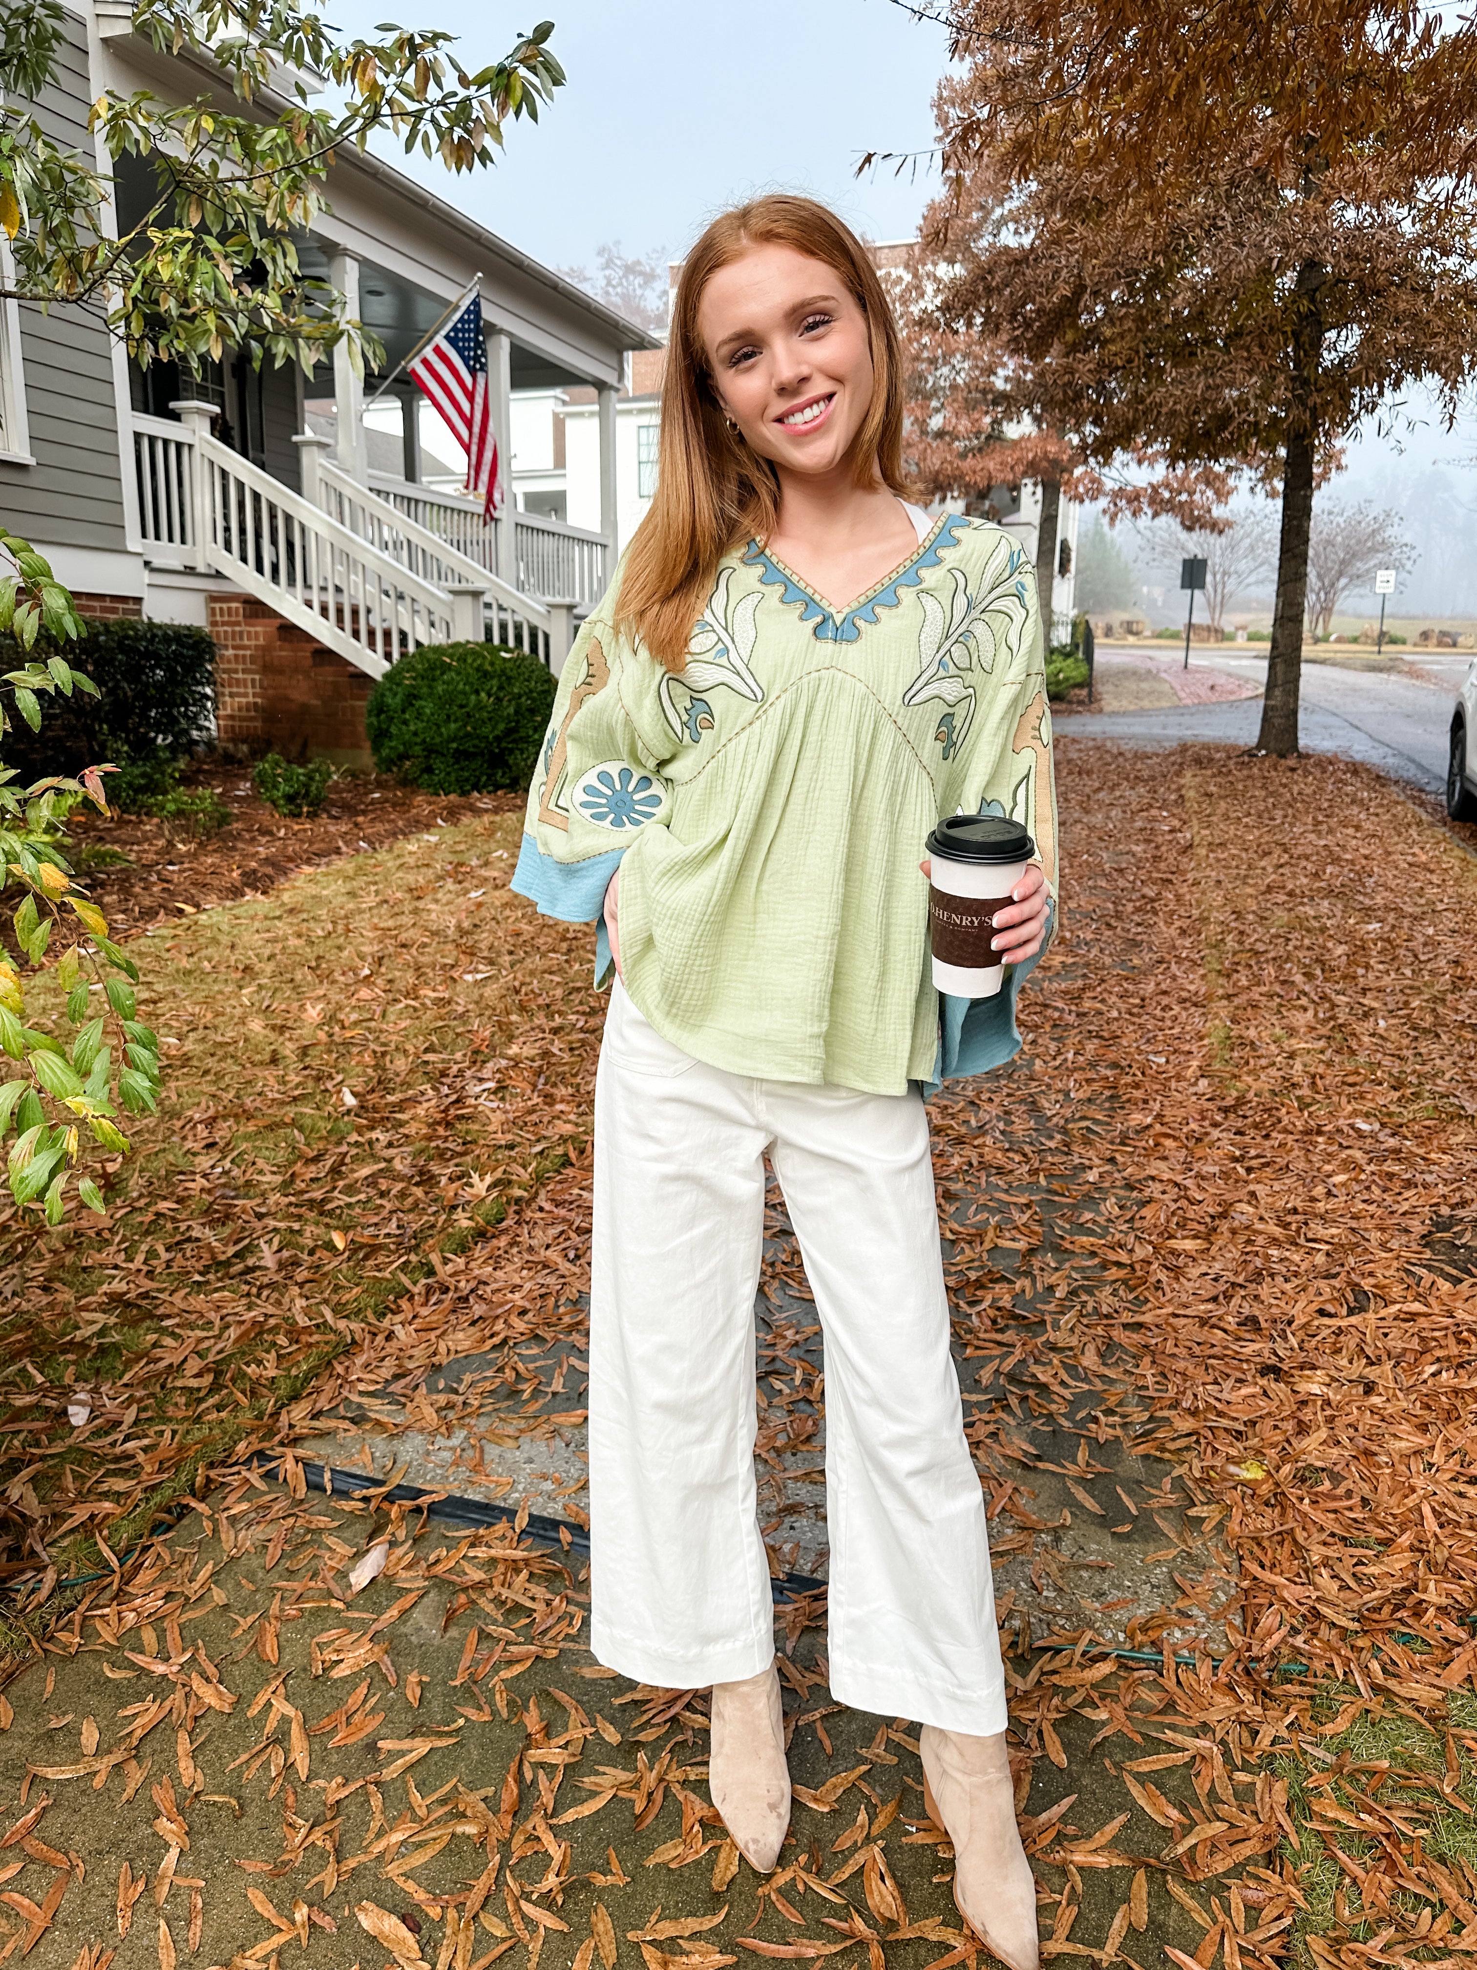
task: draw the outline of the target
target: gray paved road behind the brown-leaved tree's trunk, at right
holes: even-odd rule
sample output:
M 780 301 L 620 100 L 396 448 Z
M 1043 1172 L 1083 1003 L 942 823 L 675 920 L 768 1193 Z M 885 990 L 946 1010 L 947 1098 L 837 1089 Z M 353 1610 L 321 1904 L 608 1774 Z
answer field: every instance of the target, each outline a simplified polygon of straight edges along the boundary
M 1132 654 L 1132 652 L 1124 652 Z M 1308 753 L 1339 753 L 1394 778 L 1440 794 L 1445 784 L 1447 731 L 1457 688 L 1471 656 L 1432 654 L 1420 660 L 1430 682 L 1388 672 L 1343 670 L 1304 664 L 1300 737 Z M 1191 654 L 1191 672 L 1219 670 L 1262 684 L 1264 656 L 1217 650 Z M 1254 745 L 1262 719 L 1258 697 L 1241 703 L 1174 705 L 1162 711 L 1065 713 L 1058 729 L 1073 737 L 1117 739 L 1124 745 L 1164 747 L 1186 739 Z

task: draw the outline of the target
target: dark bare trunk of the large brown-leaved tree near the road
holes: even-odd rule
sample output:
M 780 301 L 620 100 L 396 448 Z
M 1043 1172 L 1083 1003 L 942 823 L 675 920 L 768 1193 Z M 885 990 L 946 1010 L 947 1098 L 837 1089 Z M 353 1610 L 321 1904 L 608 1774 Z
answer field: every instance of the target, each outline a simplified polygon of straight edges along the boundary
M 1282 461 L 1282 534 L 1276 552 L 1276 609 L 1266 656 L 1266 695 L 1258 753 L 1292 758 L 1298 753 L 1302 636 L 1308 613 L 1308 542 L 1314 526 L 1314 451 L 1317 447 L 1317 372 L 1323 361 L 1321 286 L 1317 260 L 1298 268 L 1292 331 L 1292 414 Z

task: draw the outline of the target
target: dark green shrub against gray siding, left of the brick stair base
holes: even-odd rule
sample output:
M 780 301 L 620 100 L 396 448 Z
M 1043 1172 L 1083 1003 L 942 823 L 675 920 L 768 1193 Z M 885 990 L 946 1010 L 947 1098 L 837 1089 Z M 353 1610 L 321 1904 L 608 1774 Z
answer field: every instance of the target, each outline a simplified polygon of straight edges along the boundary
M 37 640 L 37 656 L 53 654 Z M 89 623 L 87 636 L 67 646 L 69 662 L 96 684 L 98 695 L 73 691 L 47 709 L 45 739 L 16 721 L 6 733 L 6 764 L 22 780 L 81 772 L 110 760 L 144 762 L 160 753 L 179 758 L 215 733 L 215 642 L 187 623 Z M 0 636 L 0 670 L 22 654 Z M 116 774 L 108 774 L 108 796 Z

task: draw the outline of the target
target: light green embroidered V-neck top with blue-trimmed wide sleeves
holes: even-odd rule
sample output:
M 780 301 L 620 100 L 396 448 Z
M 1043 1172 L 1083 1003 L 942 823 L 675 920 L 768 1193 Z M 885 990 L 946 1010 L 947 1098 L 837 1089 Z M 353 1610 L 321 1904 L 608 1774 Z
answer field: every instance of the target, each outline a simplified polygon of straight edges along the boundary
M 595 922 L 620 865 L 626 989 L 697 1060 L 902 1093 L 1020 1044 L 1030 965 L 939 1001 L 918 863 L 941 816 L 1008 814 L 1056 888 L 1036 581 L 998 526 L 918 520 L 841 613 L 750 544 L 681 676 L 616 634 L 614 587 L 565 662 L 514 888 Z

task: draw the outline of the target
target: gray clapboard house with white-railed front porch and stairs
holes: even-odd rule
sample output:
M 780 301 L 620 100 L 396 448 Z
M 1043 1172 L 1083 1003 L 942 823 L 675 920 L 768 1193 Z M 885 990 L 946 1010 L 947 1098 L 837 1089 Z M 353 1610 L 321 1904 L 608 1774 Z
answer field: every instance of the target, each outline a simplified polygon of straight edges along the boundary
M 59 79 L 37 114 L 114 173 L 114 219 L 128 227 L 150 179 L 132 160 L 114 171 L 89 134 L 104 89 L 230 98 L 209 59 L 138 35 L 122 0 L 69 0 Z M 626 353 L 656 341 L 376 158 L 343 156 L 327 199 L 305 266 L 374 329 L 386 372 L 479 282 L 508 487 L 490 526 L 445 473 L 425 483 L 404 376 L 382 400 L 400 406 L 398 433 L 366 431 L 347 357 L 307 380 L 244 357 L 189 378 L 130 362 L 96 309 L 28 301 L 0 301 L 0 522 L 51 559 L 87 615 L 209 626 L 223 741 L 354 758 L 372 680 L 416 644 L 488 634 L 557 672 L 614 565 Z M 591 386 L 599 530 L 514 510 L 510 394 Z

